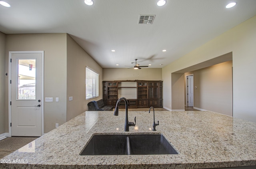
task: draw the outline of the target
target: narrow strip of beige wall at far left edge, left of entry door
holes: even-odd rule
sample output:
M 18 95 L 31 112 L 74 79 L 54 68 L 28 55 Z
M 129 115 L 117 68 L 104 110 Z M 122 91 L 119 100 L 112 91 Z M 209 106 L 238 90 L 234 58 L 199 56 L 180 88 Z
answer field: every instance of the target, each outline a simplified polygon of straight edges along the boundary
M 4 64 L 4 54 L 5 54 L 5 37 L 6 35 L 0 32 L 0 134 L 5 133 L 4 120 L 4 80 L 5 80 L 5 64 Z

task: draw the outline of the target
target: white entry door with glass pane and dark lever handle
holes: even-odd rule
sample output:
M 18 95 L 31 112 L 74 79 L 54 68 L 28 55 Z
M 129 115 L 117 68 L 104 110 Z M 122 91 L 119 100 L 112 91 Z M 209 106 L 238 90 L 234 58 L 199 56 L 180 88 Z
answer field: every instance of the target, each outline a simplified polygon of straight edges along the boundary
M 10 53 L 12 136 L 42 135 L 42 55 Z

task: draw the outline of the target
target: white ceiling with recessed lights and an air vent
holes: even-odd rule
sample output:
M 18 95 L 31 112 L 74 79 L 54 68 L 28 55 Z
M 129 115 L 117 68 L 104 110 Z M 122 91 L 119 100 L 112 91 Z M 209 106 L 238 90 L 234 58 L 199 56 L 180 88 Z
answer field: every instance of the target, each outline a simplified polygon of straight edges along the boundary
M 128 68 L 136 58 L 162 68 L 256 15 L 256 0 L 235 0 L 230 9 L 232 0 L 167 0 L 162 7 L 157 0 L 5 1 L 11 7 L 0 5 L 1 32 L 68 33 L 102 68 Z M 156 15 L 153 24 L 139 25 L 140 14 Z

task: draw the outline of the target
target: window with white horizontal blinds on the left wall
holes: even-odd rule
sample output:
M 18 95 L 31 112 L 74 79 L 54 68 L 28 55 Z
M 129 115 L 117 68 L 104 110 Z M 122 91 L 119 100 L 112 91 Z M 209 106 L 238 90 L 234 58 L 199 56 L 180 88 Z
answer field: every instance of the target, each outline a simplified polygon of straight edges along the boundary
M 86 67 L 86 99 L 99 96 L 99 74 Z

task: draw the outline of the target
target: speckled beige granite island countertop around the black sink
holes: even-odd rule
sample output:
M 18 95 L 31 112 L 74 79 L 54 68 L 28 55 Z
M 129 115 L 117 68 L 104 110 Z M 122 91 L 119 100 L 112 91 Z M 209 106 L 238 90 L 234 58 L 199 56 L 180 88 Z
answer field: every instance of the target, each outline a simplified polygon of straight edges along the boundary
M 209 111 L 130 111 L 136 126 L 124 131 L 125 112 L 86 111 L 3 159 L 0 168 L 256 168 L 256 123 Z M 162 133 L 178 155 L 95 155 L 79 153 L 94 133 Z M 17 161 L 18 160 L 18 161 Z

